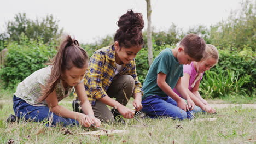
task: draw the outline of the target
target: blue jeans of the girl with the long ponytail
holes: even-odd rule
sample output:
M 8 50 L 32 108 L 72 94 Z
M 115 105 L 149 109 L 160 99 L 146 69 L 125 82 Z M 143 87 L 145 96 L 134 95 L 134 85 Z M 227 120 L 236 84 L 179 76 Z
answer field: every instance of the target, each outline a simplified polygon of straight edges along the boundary
M 33 122 L 43 122 L 46 123 L 46 126 L 57 124 L 64 127 L 67 125 L 79 125 L 75 119 L 60 117 L 51 112 L 47 106 L 32 106 L 15 95 L 13 97 L 13 110 L 18 118 Z

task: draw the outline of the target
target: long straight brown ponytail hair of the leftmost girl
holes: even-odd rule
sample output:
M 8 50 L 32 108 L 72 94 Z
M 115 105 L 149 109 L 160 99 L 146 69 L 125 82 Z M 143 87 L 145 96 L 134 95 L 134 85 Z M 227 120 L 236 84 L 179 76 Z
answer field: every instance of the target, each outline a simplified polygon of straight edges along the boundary
M 88 64 L 88 55 L 82 47 L 79 46 L 77 40 L 72 39 L 70 35 L 67 35 L 60 45 L 57 55 L 53 58 L 50 65 L 51 75 L 47 80 L 47 84 L 42 89 L 42 97 L 38 100 L 45 100 L 48 95 L 54 91 L 57 83 L 61 79 L 65 79 L 63 73 L 66 69 L 71 69 L 73 66 L 77 68 L 84 68 Z

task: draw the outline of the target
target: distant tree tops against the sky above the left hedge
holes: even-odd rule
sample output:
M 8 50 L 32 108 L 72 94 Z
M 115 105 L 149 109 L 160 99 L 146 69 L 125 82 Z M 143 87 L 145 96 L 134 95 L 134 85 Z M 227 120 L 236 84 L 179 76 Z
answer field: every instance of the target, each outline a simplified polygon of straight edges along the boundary
M 28 19 L 26 14 L 19 13 L 14 17 L 14 21 L 7 22 L 7 31 L 2 34 L 2 40 L 20 41 L 20 35 L 23 33 L 28 39 L 43 39 L 43 43 L 56 41 L 60 38 L 63 28 L 59 28 L 59 20 L 55 20 L 53 15 L 47 15 L 39 20 Z

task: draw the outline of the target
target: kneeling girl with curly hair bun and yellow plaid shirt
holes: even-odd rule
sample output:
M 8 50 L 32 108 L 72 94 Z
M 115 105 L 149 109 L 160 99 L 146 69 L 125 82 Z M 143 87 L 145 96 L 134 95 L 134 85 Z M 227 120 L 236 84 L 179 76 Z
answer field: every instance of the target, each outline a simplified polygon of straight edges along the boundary
M 135 110 L 142 109 L 143 91 L 135 64 L 135 56 L 144 44 L 142 14 L 128 10 L 117 25 L 119 29 L 114 44 L 92 55 L 84 77 L 85 90 L 95 116 L 104 122 L 113 122 L 120 115 L 133 118 L 135 112 L 125 107 L 131 97 L 134 98 Z M 107 105 L 113 109 L 110 111 Z M 78 103 L 75 103 L 74 111 L 78 111 L 77 107 Z

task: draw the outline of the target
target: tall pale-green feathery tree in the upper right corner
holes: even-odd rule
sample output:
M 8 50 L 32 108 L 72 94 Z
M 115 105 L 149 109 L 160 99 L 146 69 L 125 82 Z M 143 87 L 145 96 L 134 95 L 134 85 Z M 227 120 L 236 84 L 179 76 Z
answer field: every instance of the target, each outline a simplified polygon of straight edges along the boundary
M 241 9 L 231 11 L 228 20 L 213 25 L 210 30 L 210 39 L 213 45 L 222 49 L 232 47 L 240 48 L 251 46 L 256 48 L 256 17 L 255 3 L 253 1 L 241 2 Z

